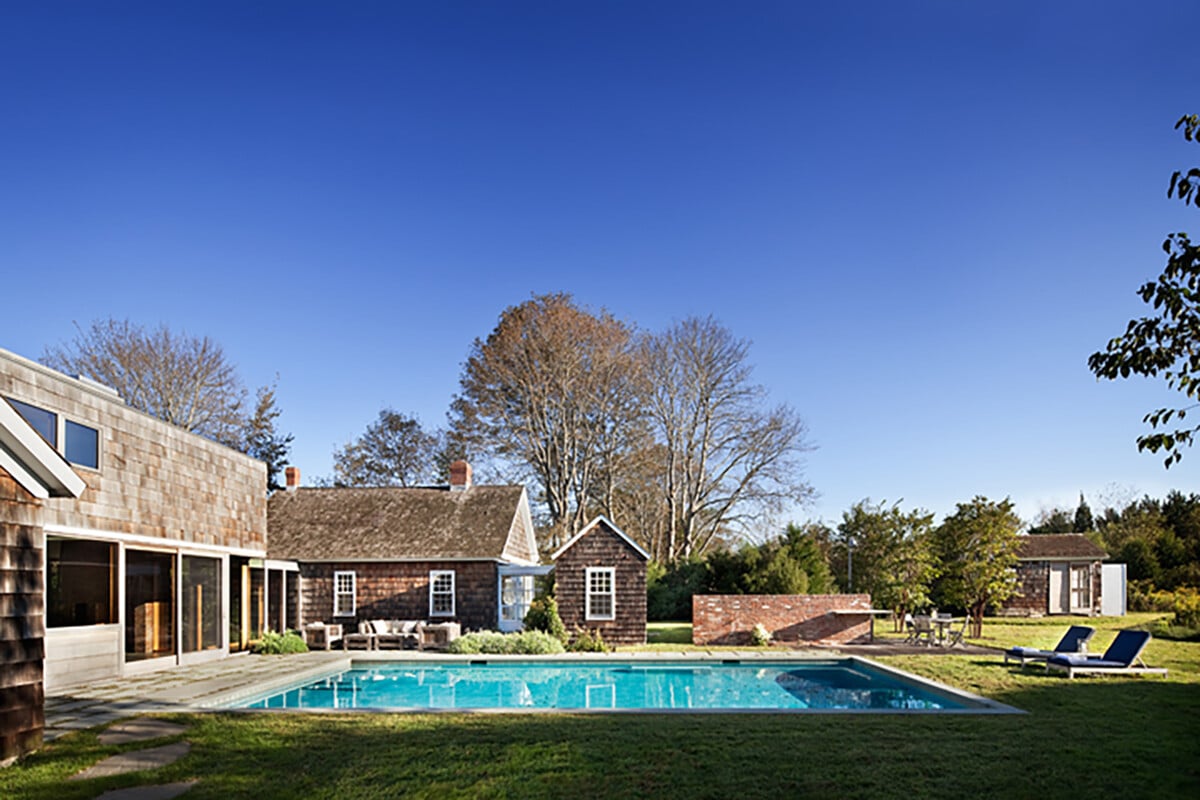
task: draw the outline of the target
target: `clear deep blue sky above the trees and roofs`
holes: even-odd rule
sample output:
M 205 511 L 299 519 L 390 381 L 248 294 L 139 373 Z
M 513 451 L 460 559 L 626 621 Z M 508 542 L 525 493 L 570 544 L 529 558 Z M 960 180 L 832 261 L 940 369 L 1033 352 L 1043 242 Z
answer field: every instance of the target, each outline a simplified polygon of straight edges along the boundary
M 818 446 L 797 519 L 1200 489 L 1134 446 L 1177 396 L 1086 366 L 1200 228 L 1194 2 L 2 10 L 0 347 L 209 335 L 305 476 L 564 290 L 751 339 Z

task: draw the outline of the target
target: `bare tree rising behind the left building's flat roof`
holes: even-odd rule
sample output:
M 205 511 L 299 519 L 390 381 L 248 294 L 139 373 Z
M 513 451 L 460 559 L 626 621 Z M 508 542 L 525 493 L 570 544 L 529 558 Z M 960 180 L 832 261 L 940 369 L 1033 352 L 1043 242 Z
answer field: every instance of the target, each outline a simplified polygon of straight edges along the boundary
M 216 342 L 116 319 L 76 331 L 71 342 L 47 348 L 42 363 L 112 386 L 132 408 L 241 449 L 246 389 Z

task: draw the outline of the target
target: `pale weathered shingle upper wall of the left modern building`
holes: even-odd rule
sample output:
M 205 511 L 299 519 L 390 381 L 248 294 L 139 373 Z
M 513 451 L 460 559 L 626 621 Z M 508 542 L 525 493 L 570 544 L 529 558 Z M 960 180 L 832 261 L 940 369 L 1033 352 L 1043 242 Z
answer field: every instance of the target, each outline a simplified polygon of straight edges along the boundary
M 47 525 L 265 549 L 262 462 L 5 353 L 0 395 L 100 432 L 100 470 L 76 468 L 88 488 L 78 500 L 47 501 Z

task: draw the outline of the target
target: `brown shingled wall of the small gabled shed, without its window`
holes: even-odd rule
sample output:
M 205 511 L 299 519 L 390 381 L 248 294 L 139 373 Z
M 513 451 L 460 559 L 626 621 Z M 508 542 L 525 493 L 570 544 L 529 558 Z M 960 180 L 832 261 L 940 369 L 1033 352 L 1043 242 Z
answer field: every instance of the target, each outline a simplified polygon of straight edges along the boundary
M 616 619 L 587 619 L 587 567 L 616 567 Z M 554 561 L 554 599 L 568 631 L 600 631 L 607 644 L 646 643 L 646 559 L 602 522 Z

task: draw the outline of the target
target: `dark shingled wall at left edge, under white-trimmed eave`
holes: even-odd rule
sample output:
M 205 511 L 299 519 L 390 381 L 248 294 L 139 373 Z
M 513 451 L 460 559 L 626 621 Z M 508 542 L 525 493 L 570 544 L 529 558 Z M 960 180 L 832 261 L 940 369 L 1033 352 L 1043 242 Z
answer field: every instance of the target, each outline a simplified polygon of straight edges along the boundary
M 0 469 L 0 764 L 42 744 L 41 503 Z

